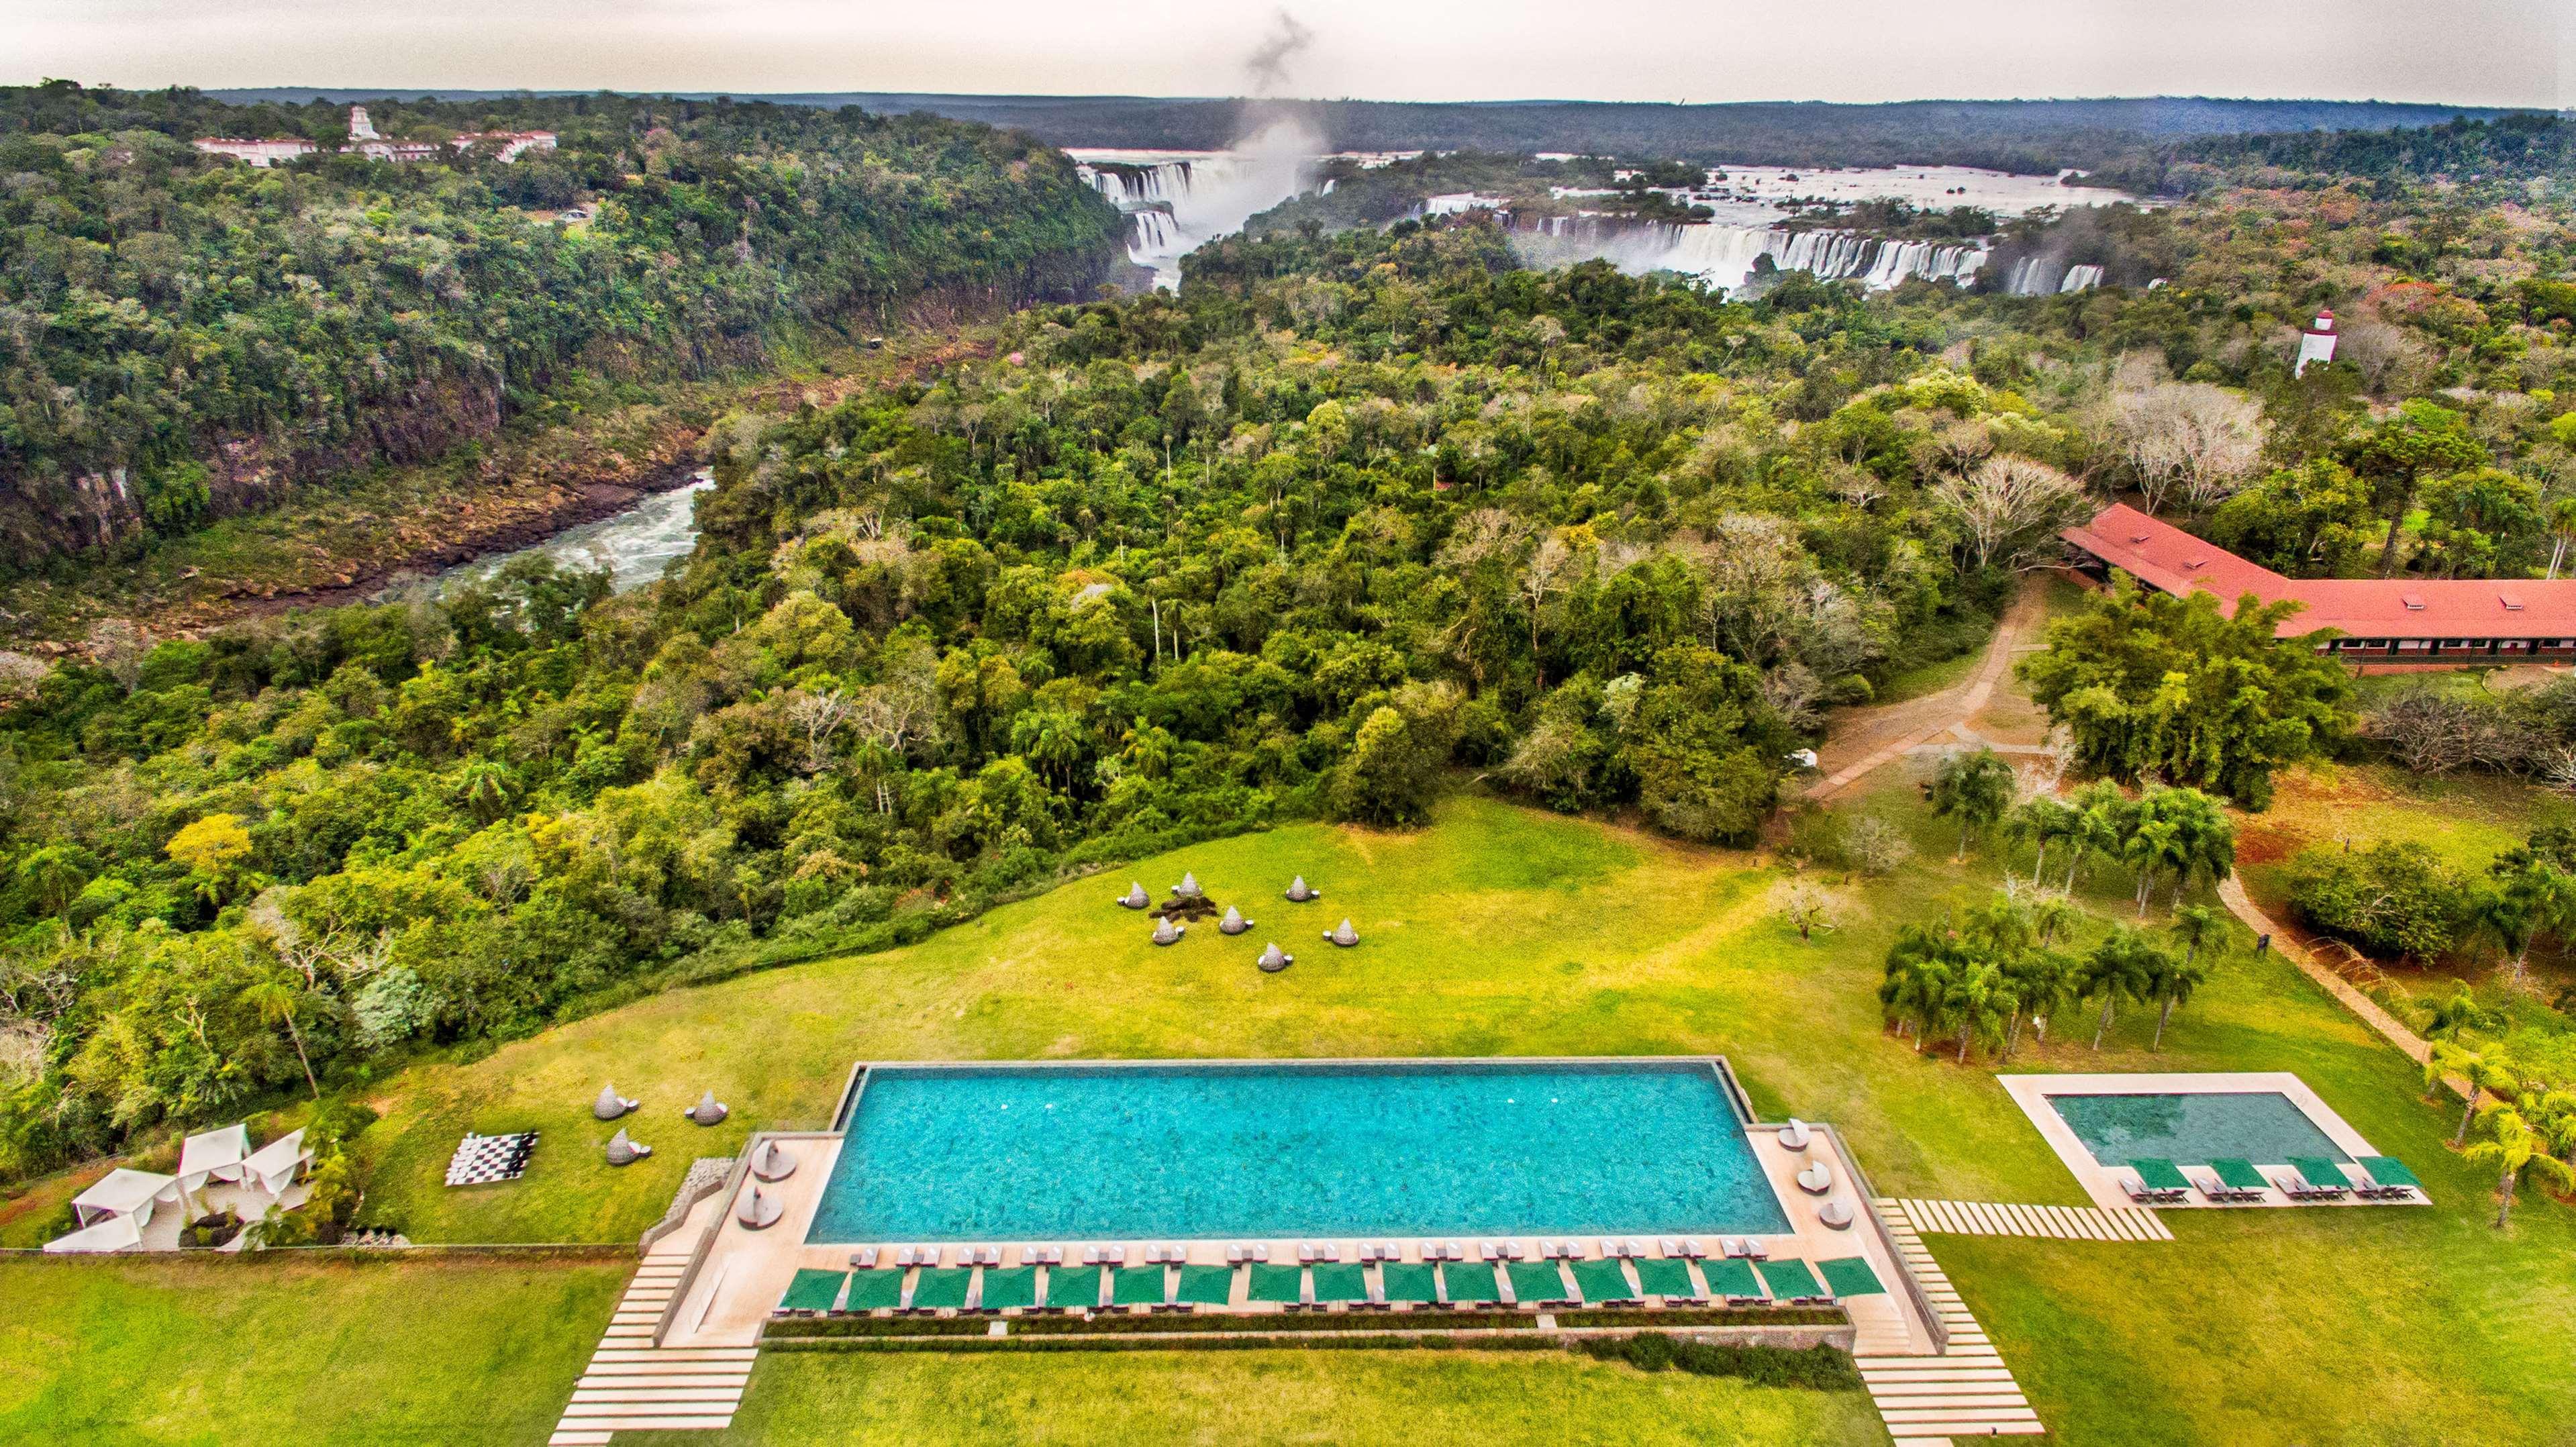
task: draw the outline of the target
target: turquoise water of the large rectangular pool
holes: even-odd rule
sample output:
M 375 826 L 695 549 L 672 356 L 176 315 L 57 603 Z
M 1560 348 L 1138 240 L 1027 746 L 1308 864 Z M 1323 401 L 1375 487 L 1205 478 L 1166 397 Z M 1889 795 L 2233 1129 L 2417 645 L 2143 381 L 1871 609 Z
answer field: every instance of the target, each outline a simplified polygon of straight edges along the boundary
M 1783 1233 L 1716 1069 L 871 1069 L 809 1241 Z

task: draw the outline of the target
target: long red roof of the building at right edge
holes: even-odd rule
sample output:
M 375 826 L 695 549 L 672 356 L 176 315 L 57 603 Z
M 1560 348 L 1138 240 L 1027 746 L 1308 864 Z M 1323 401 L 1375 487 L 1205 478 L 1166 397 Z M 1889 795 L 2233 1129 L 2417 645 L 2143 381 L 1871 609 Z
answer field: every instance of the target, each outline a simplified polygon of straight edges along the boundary
M 2354 639 L 2576 639 L 2576 579 L 2282 577 L 2123 502 L 2058 536 L 2159 592 L 2213 592 L 2228 613 L 2246 592 L 2300 602 L 2277 628 L 2282 639 L 2318 628 Z

